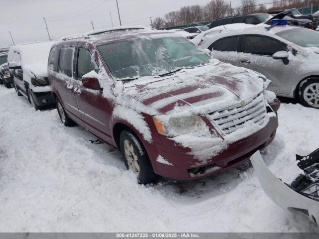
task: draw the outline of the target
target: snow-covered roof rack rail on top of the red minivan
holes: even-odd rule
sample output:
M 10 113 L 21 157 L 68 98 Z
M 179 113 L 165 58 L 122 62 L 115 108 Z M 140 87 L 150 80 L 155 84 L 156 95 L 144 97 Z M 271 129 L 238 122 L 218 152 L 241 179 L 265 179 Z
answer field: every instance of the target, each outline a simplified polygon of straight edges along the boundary
M 80 33 L 80 34 L 74 34 L 74 35 L 68 35 L 60 38 L 60 41 L 65 41 L 65 40 L 74 40 L 74 39 L 79 39 L 79 38 L 90 38 L 93 35 L 97 36 L 100 34 L 107 34 L 110 32 L 119 32 L 119 31 L 130 31 L 130 30 L 144 30 L 147 29 L 145 26 L 119 26 L 119 27 L 113 27 L 113 28 L 107 28 L 107 29 L 99 29 L 99 30 L 94 30 L 94 31 L 89 31 L 85 33 Z

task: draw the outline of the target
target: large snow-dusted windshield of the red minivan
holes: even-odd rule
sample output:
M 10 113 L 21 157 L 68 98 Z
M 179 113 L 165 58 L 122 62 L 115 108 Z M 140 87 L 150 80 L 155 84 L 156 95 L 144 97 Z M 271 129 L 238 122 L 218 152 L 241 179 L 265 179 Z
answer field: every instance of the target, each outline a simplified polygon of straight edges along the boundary
M 158 76 L 209 62 L 210 57 L 182 37 L 142 37 L 97 47 L 117 79 Z

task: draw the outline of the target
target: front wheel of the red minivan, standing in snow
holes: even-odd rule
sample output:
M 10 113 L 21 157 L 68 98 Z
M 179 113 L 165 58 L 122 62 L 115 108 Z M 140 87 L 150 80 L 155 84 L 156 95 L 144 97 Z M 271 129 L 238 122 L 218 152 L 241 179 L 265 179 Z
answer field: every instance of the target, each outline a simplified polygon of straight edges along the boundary
M 121 132 L 120 149 L 126 168 L 137 174 L 140 184 L 154 182 L 158 175 L 153 170 L 143 144 L 132 131 L 125 129 Z

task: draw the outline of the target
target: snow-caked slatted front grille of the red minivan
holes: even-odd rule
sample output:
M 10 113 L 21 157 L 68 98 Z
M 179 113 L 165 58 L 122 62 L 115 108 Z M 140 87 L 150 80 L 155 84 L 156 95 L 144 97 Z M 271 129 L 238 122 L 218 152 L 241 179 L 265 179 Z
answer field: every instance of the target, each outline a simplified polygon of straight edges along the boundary
M 262 124 L 267 115 L 264 96 L 262 93 L 246 101 L 244 107 L 234 107 L 210 113 L 210 119 L 218 124 L 219 129 L 229 134 L 241 128 L 245 122 L 252 120 L 254 123 Z

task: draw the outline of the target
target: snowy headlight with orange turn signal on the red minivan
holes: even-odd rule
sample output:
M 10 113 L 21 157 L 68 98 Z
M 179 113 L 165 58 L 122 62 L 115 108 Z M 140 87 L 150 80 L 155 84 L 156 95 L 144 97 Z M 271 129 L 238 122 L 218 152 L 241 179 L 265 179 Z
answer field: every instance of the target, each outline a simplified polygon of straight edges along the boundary
M 153 120 L 159 134 L 167 137 L 175 137 L 181 134 L 189 133 L 209 133 L 208 126 L 199 116 L 155 116 L 153 117 Z

